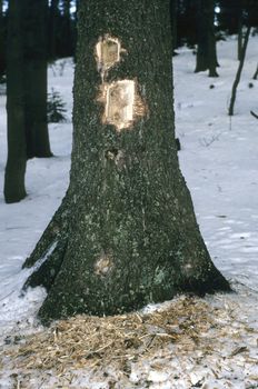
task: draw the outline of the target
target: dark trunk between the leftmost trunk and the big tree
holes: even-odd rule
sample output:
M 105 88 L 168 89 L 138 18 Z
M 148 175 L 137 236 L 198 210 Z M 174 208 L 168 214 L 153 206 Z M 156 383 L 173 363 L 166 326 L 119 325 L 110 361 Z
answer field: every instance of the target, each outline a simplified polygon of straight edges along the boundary
M 47 123 L 48 0 L 23 0 L 27 157 L 51 157 Z

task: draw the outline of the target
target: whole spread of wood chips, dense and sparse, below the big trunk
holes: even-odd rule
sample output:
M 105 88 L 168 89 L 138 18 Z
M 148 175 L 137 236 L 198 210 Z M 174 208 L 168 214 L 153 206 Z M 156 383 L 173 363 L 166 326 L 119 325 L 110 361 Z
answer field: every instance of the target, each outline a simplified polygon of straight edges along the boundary
M 16 332 L 0 356 L 0 371 L 16 389 L 91 388 L 93 383 L 78 383 L 81 373 L 95 382 L 98 377 L 107 381 L 111 371 L 117 378 L 108 388 L 125 389 L 135 388 L 133 371 L 141 375 L 140 388 L 147 388 L 150 369 L 167 369 L 190 388 L 206 382 L 204 371 L 192 378 L 190 369 L 224 379 L 238 366 L 252 383 L 258 379 L 249 373 L 258 362 L 252 352 L 258 331 L 229 296 L 212 302 L 181 296 L 155 309 L 103 318 L 81 315 L 33 335 Z M 229 379 L 225 388 L 230 385 Z

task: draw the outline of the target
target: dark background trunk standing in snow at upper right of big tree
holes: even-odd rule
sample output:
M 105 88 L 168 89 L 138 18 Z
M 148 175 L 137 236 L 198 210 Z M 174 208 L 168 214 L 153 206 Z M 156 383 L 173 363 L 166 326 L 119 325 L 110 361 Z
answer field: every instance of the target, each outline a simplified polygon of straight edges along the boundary
M 198 0 L 197 11 L 197 62 L 195 72 L 209 70 L 209 77 L 218 77 L 216 38 L 214 29 L 215 1 Z

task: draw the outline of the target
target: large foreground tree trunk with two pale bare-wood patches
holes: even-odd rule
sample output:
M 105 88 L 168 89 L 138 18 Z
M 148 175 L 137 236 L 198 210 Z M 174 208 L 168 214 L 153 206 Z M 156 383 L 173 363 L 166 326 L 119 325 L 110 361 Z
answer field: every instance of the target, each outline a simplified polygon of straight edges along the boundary
M 48 289 L 41 320 L 229 290 L 179 170 L 169 0 L 80 7 L 70 186 L 24 263 Z

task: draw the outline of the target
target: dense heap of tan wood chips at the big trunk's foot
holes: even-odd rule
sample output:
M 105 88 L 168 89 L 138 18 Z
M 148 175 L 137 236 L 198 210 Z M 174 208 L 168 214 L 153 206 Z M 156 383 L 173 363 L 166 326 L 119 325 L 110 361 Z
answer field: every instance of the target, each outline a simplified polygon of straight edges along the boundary
M 214 315 L 204 300 L 182 297 L 150 313 L 76 316 L 26 337 L 24 343 L 4 353 L 23 371 L 51 369 L 59 375 L 71 368 L 136 361 L 177 342 L 190 351 L 201 338 L 206 341 Z

